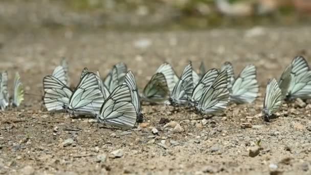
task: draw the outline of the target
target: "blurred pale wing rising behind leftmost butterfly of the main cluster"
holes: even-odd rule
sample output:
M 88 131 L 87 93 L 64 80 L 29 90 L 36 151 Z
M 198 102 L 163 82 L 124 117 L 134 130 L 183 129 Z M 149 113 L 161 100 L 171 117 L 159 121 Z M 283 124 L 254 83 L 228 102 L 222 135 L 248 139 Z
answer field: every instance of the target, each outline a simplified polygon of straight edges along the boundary
M 58 65 L 52 75 L 59 79 L 62 83 L 66 84 L 67 86 L 70 85 L 69 74 L 68 74 L 68 63 L 66 62 L 65 58 L 63 58 Z

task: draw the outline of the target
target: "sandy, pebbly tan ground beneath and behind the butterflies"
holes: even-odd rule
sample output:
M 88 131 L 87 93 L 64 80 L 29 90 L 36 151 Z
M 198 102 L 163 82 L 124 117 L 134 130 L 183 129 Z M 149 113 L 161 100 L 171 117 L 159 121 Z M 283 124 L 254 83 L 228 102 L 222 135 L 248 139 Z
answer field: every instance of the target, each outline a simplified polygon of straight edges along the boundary
M 260 118 L 268 78 L 278 78 L 295 55 L 310 61 L 310 31 L 2 33 L 0 70 L 9 71 L 10 86 L 19 71 L 29 95 L 18 109 L 0 114 L 0 173 L 310 174 L 311 104 L 283 104 L 280 117 L 271 123 Z M 195 68 L 201 60 L 208 68 L 231 61 L 236 75 L 253 63 L 261 97 L 252 104 L 232 104 L 225 114 L 208 120 L 187 111 L 169 112 L 163 105 L 144 105 L 145 113 L 162 112 L 147 114 L 148 121 L 138 129 L 106 129 L 92 125 L 93 119 L 50 114 L 41 106 L 42 78 L 62 56 L 70 63 L 73 85 L 84 67 L 105 75 L 113 64 L 124 61 L 140 89 L 163 61 L 178 74 L 188 60 Z M 165 127 L 168 121 L 182 128 L 175 128 L 174 122 Z

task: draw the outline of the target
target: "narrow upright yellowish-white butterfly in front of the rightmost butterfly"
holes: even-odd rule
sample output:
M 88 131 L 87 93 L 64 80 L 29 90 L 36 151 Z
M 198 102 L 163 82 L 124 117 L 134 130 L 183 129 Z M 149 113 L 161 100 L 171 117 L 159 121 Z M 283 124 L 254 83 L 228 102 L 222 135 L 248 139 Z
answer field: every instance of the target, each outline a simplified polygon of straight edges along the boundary
M 276 79 L 269 79 L 266 85 L 265 96 L 263 101 L 262 114 L 265 121 L 270 121 L 270 118 L 278 110 L 282 103 L 282 91 L 279 88 Z

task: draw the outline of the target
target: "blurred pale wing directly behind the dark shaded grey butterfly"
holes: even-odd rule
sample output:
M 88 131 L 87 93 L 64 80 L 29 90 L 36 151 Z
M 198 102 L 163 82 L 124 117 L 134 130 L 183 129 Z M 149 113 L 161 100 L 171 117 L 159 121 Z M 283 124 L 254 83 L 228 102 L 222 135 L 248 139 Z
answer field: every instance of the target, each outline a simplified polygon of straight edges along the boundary
M 156 73 L 162 73 L 165 76 L 169 92 L 172 92 L 175 84 L 179 80 L 172 66 L 169 63 L 164 62 L 160 65 Z

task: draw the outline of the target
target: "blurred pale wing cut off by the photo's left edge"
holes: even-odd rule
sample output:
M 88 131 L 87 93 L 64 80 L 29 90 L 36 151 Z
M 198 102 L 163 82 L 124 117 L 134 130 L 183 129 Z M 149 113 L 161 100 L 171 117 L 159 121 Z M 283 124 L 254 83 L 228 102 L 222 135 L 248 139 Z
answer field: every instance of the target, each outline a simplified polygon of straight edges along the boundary
M 4 71 L 1 74 L 1 96 L 0 96 L 0 105 L 4 111 L 9 106 L 9 90 L 8 90 L 8 72 Z

